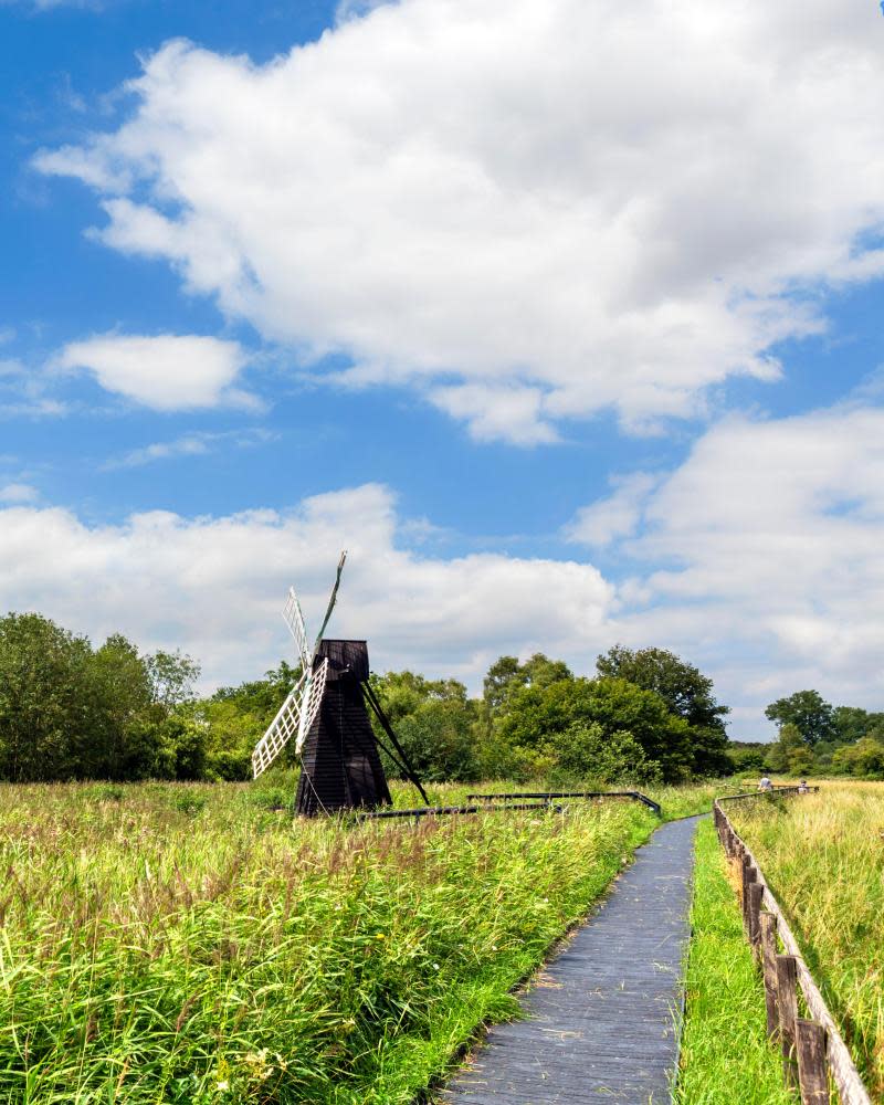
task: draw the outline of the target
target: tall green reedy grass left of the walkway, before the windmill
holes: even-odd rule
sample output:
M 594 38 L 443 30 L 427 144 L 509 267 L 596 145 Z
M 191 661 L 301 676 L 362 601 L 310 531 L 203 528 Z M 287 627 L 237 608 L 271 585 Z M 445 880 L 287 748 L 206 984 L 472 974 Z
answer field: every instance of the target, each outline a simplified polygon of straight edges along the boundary
M 0 1101 L 410 1102 L 655 823 L 347 827 L 288 797 L 0 788 Z

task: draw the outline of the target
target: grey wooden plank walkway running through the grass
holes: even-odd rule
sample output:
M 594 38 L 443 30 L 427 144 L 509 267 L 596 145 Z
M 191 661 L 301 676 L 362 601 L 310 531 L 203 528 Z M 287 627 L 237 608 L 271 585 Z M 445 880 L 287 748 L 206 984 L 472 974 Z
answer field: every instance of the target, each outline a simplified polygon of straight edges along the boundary
M 678 1060 L 696 818 L 662 825 L 497 1024 L 446 1105 L 664 1105 Z

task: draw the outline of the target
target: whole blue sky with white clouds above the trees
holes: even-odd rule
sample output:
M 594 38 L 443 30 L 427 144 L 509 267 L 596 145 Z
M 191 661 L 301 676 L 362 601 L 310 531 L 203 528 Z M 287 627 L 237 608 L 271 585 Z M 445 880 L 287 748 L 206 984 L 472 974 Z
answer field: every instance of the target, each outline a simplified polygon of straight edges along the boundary
M 873 0 L 0 0 L 0 610 L 884 708 Z

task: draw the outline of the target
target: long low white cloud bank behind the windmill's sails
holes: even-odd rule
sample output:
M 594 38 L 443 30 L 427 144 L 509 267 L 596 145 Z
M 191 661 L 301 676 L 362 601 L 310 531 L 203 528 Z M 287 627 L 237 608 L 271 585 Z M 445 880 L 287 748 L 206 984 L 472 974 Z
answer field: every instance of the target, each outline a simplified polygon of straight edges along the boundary
M 0 511 L 0 610 L 36 609 L 98 640 L 180 646 L 209 683 L 254 677 L 288 654 L 280 617 L 295 583 L 316 631 L 341 548 L 349 559 L 330 634 L 366 636 L 372 665 L 454 674 L 476 686 L 503 652 L 591 663 L 611 588 L 589 565 L 400 547 L 392 494 L 369 484 L 286 512 L 188 519 L 165 512 L 90 526 L 60 508 Z

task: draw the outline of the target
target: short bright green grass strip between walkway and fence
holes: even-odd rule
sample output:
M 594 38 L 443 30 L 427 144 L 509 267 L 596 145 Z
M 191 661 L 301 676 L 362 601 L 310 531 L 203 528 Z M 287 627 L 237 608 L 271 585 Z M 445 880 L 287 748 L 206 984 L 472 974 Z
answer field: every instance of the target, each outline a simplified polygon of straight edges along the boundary
M 765 1031 L 765 991 L 711 820 L 696 838 L 676 1105 L 794 1105 Z

